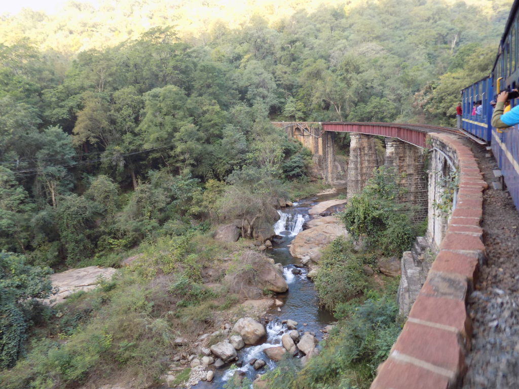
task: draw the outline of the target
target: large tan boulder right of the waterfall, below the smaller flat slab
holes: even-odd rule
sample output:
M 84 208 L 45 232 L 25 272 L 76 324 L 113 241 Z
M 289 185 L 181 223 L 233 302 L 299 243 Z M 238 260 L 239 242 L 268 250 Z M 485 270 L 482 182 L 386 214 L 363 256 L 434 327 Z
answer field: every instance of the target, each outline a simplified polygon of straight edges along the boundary
M 332 243 L 338 237 L 348 237 L 348 231 L 340 224 L 323 224 L 299 232 L 290 246 L 293 257 L 309 257 L 313 262 L 321 259 L 321 248 Z

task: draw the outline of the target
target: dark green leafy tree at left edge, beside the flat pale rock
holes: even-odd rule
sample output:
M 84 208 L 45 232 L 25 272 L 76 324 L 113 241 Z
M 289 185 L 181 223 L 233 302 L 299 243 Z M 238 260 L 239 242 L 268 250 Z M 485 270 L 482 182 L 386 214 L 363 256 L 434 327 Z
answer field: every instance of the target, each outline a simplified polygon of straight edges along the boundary
M 0 368 L 13 366 L 23 355 L 34 307 L 50 296 L 51 273 L 27 265 L 23 255 L 0 253 Z

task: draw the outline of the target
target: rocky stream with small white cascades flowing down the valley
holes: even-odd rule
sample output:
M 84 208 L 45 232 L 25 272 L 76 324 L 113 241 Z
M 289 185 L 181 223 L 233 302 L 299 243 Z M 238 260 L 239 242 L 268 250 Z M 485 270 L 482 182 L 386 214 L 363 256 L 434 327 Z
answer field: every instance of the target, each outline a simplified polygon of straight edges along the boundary
M 268 249 L 266 254 L 274 258 L 276 263 L 283 265 L 283 276 L 289 285 L 289 290 L 286 293 L 277 295 L 277 299 L 283 302 L 280 311 L 278 311 L 278 308 L 272 308 L 267 312 L 267 316 L 271 317 L 271 321 L 266 326 L 266 342 L 256 346 L 247 346 L 238 351 L 238 357 L 243 361 L 243 366 L 238 368 L 238 370 L 245 372 L 247 378 L 251 381 L 254 381 L 256 374 L 262 374 L 267 369 L 271 370 L 276 366 L 276 363 L 263 353 L 263 350 L 281 345 L 282 335 L 289 332 L 286 325 L 282 324 L 283 320 L 291 319 L 296 321 L 298 323 L 297 329 L 301 334 L 309 331 L 312 335 L 315 334 L 319 341 L 322 339 L 320 330 L 334 321 L 331 312 L 319 307 L 317 291 L 306 276 L 308 270 L 299 268 L 301 274 L 292 273 L 292 270 L 296 268 L 294 265 L 299 266 L 300 261 L 298 258 L 290 255 L 289 245 L 295 236 L 303 230 L 305 221 L 310 219 L 308 215 L 310 208 L 318 202 L 336 197 L 337 193 L 304 199 L 294 203 L 291 207 L 278 211 L 280 219 L 274 225 L 274 230 L 283 239 L 282 241 L 278 240 L 278 243 L 272 242 L 274 247 Z M 267 365 L 260 370 L 254 370 L 248 363 L 252 358 L 263 359 Z M 226 382 L 233 377 L 235 371 L 236 369 L 229 369 L 228 366 L 216 369 L 212 382 L 200 381 L 193 387 L 197 389 L 222 389 Z

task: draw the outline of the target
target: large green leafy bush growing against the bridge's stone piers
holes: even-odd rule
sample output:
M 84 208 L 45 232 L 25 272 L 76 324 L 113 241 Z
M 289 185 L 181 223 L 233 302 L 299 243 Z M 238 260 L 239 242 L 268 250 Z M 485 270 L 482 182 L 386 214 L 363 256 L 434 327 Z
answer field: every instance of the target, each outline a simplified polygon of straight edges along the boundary
M 402 189 L 393 169 L 378 168 L 359 195 L 340 214 L 354 239 L 383 255 L 400 255 L 414 238 L 409 207 L 395 202 Z

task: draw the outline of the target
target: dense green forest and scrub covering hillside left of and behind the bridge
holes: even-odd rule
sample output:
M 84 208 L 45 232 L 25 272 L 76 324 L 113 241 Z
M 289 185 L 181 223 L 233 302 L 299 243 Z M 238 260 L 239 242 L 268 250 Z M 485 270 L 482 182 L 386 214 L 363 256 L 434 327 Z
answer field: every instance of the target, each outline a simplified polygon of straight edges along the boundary
M 138 358 L 152 367 L 128 374 L 153 382 L 163 366 L 150 350 L 169 343 L 157 327 L 164 323 L 152 318 L 163 320 L 168 309 L 146 282 L 181 269 L 187 278 L 175 282 L 191 286 L 174 296 L 184 305 L 170 332 L 206 325 L 197 318 L 209 310 L 204 303 L 221 298 L 210 307 L 220 309 L 232 301 L 200 289 L 201 263 L 223 250 L 212 252 L 203 232 L 272 198 L 315 190 L 308 152 L 270 122 L 451 125 L 459 90 L 488 74 L 511 5 L 165 3 L 96 10 L 71 2 L 53 16 L 1 17 L 0 308 L 10 316 L 0 326 L 16 335 L 0 342 L 0 369 L 25 355 L 29 328 L 34 339 L 71 337 L 67 348 L 31 343 L 6 387 L 27 371 L 23 387 L 76 387 L 108 373 L 112 365 L 103 370 L 100 360 Z M 161 257 L 165 246 L 174 247 L 171 257 Z M 45 267 L 114 266 L 138 247 L 154 271 L 143 266 L 138 280 L 104 285 L 59 323 L 32 310 L 50 293 L 40 279 Z M 111 300 L 117 310 L 103 305 Z M 146 305 L 152 300 L 155 308 Z M 116 318 L 100 319 L 143 312 L 150 322 L 131 333 Z M 92 316 L 97 322 L 76 331 Z M 162 335 L 150 339 L 149 328 Z M 92 349 L 81 349 L 92 337 Z M 145 350 L 132 354 L 136 339 Z

